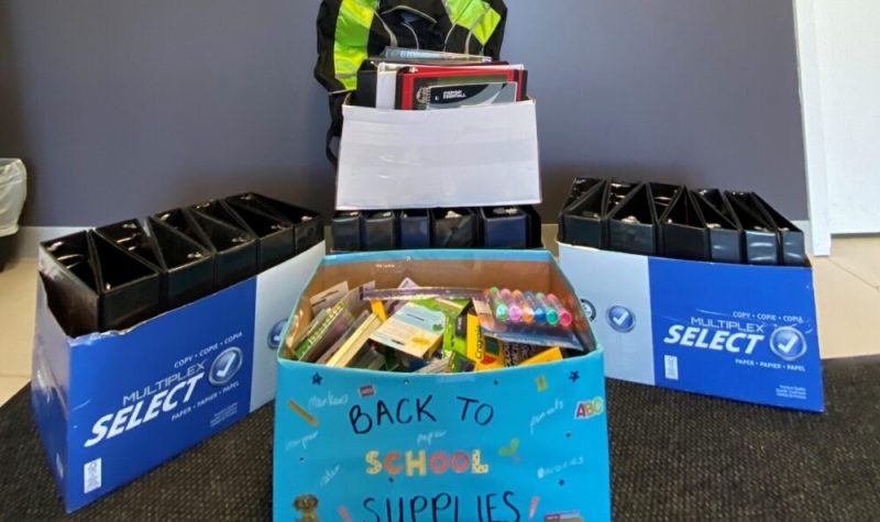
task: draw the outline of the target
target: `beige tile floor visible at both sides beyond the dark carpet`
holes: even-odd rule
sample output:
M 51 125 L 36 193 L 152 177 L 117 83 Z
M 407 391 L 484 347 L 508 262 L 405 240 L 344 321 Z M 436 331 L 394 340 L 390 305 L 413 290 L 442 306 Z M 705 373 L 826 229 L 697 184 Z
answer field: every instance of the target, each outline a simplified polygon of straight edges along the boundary
M 547 231 L 548 245 L 553 232 Z M 832 257 L 813 264 L 823 357 L 880 353 L 873 330 L 880 323 L 880 237 L 835 240 Z M 35 285 L 34 259 L 0 273 L 0 404 L 30 380 Z

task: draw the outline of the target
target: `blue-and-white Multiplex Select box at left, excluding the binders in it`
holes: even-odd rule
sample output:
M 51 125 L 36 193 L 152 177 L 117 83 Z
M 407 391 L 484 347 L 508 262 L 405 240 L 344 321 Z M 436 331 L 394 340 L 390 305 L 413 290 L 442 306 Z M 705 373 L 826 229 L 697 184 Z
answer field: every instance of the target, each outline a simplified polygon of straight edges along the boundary
M 76 338 L 41 280 L 31 401 L 68 511 L 273 399 L 282 327 L 324 248 L 129 330 Z

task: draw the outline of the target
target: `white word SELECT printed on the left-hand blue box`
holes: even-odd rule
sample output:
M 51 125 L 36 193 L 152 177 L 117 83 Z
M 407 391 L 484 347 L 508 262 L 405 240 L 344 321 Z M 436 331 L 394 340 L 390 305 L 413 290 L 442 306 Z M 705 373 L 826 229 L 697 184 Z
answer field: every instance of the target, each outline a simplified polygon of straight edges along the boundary
M 129 404 L 116 413 L 108 413 L 103 415 L 102 418 L 98 419 L 98 422 L 96 422 L 92 426 L 91 433 L 95 436 L 86 441 L 85 446 L 94 446 L 105 438 L 112 438 L 117 435 L 121 435 L 129 430 L 138 427 L 144 422 L 152 421 L 158 417 L 160 412 L 168 413 L 174 411 L 178 404 L 189 402 L 189 399 L 193 397 L 193 390 L 196 388 L 196 384 L 202 377 L 205 377 L 204 373 L 194 375 L 187 380 L 178 382 L 177 386 L 170 390 L 162 390 L 155 393 L 153 398 L 150 399 L 150 406 L 146 407 L 146 412 L 143 414 L 143 417 L 141 417 L 141 411 L 144 409 L 144 402 L 146 402 L 146 399 L 138 401 L 135 404 Z M 185 388 L 186 392 L 184 393 L 183 390 Z M 180 397 L 180 393 L 184 393 L 183 398 Z

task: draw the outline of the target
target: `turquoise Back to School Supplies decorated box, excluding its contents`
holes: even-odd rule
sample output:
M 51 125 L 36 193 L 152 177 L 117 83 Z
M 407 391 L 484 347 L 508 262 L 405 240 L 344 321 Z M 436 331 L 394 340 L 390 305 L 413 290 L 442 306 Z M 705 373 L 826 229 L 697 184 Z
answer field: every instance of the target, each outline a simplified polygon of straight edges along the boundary
M 275 407 L 274 520 L 343 522 L 610 520 L 602 349 L 547 252 L 419 251 L 328 256 L 308 298 L 375 280 L 394 288 L 504 285 L 575 307 L 595 349 L 465 374 L 334 368 L 284 358 Z

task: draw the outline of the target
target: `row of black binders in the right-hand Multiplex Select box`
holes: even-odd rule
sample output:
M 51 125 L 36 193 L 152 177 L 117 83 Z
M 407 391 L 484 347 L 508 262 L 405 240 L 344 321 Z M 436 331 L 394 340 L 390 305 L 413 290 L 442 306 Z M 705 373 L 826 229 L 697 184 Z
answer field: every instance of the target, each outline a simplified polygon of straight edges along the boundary
M 755 192 L 579 177 L 559 227 L 563 243 L 631 254 L 807 264 L 804 233 Z

